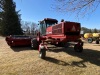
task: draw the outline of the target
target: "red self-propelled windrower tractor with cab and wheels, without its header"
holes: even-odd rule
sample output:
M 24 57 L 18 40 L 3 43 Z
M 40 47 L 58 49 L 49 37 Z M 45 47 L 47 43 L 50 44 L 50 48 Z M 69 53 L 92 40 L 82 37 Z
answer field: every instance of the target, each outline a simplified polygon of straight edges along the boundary
M 45 18 L 40 21 L 40 32 L 37 39 L 32 40 L 31 47 L 37 48 L 39 46 L 41 58 L 45 58 L 48 43 L 65 47 L 68 42 L 75 42 L 74 50 L 82 52 L 83 42 L 80 40 L 80 30 L 80 23 L 69 21 L 58 23 L 56 19 Z

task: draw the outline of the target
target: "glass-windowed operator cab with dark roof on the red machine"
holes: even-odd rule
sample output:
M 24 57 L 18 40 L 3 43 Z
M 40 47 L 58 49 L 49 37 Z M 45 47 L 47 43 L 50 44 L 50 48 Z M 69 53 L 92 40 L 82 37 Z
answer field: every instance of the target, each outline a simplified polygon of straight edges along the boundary
M 39 22 L 40 25 L 40 33 L 42 35 L 46 35 L 46 28 L 57 24 L 58 21 L 56 19 L 45 18 L 44 20 Z

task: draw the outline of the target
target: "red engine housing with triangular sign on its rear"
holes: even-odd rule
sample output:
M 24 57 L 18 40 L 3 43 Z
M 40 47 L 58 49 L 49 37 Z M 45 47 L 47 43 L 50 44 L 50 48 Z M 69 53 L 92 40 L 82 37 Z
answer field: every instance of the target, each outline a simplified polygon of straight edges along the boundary
M 52 19 L 44 19 L 52 20 Z M 53 19 L 56 21 L 55 19 Z M 41 40 L 52 39 L 51 42 L 75 42 L 80 36 L 81 25 L 77 22 L 64 21 L 46 28 L 46 34 L 40 37 Z M 41 32 L 40 32 L 41 33 Z

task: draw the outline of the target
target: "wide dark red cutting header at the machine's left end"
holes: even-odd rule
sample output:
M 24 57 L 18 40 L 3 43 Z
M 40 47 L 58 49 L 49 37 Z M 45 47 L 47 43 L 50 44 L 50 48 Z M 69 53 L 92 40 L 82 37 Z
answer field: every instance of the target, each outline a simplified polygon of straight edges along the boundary
M 30 46 L 31 45 L 31 37 L 30 36 L 19 36 L 19 35 L 11 35 L 6 37 L 6 42 L 9 46 Z

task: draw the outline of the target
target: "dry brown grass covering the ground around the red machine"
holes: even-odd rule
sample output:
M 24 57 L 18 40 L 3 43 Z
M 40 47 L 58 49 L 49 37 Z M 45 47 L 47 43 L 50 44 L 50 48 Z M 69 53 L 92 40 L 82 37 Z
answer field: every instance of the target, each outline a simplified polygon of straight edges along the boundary
M 52 47 L 43 60 L 37 50 L 10 48 L 0 37 L 0 75 L 100 75 L 100 44 L 85 43 L 83 53 Z

